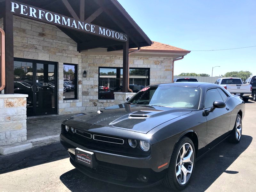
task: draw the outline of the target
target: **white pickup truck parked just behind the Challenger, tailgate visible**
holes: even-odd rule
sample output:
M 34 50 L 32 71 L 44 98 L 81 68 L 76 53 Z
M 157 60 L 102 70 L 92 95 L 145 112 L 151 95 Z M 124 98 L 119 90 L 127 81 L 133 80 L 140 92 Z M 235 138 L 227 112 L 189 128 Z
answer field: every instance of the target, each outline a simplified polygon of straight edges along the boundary
M 252 94 L 252 85 L 251 84 L 243 84 L 242 79 L 236 77 L 227 77 L 217 79 L 215 84 L 219 84 L 228 92 L 239 95 L 242 99 L 247 102 L 249 100 L 249 96 Z

